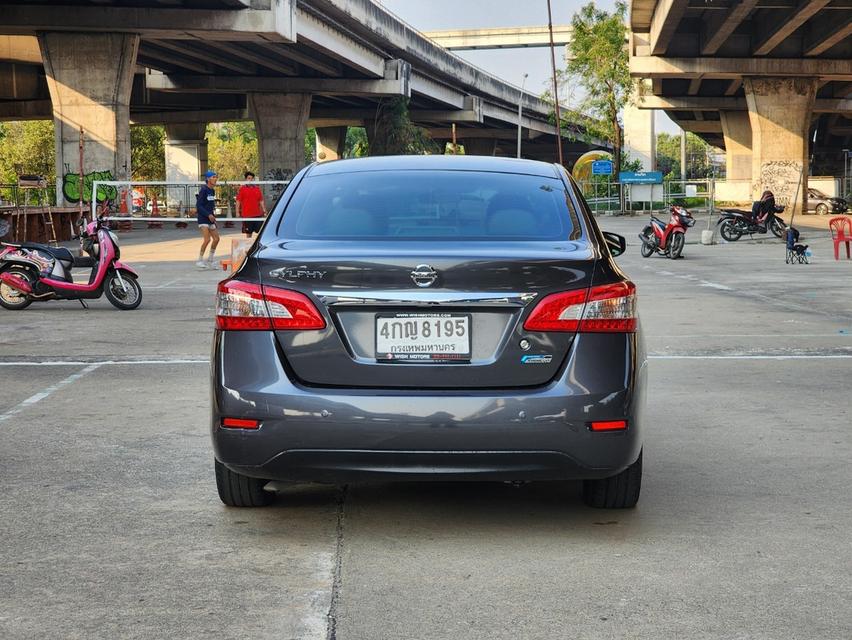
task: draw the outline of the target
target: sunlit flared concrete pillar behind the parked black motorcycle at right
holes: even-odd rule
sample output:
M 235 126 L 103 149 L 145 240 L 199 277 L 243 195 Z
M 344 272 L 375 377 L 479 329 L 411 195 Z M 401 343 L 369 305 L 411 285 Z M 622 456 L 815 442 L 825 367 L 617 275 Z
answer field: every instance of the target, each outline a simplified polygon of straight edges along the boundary
M 808 186 L 808 132 L 816 78 L 745 78 L 752 133 L 752 198 L 764 189 L 787 207 L 787 219 L 802 211 Z M 796 193 L 798 200 L 794 203 Z

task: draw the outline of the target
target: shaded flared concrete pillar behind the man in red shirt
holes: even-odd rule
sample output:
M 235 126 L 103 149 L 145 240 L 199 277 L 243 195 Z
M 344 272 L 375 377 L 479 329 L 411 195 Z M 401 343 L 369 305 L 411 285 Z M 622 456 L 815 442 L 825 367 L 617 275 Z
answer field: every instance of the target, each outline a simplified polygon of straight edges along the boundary
M 305 166 L 310 94 L 250 93 L 248 104 L 257 130 L 258 177 L 289 180 Z

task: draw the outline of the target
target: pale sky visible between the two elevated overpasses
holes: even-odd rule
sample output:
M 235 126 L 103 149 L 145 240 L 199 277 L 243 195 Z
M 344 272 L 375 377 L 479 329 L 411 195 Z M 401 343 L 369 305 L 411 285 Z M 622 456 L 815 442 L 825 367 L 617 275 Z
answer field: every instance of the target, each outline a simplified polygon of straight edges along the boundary
M 395 13 L 419 31 L 444 29 L 477 29 L 489 27 L 532 27 L 547 24 L 546 0 L 373 0 Z M 554 0 L 553 23 L 569 24 L 574 13 L 584 4 L 580 0 Z M 601 9 L 612 10 L 614 0 L 598 0 Z M 456 51 L 464 58 L 506 82 L 520 86 L 525 73 L 529 74 L 526 89 L 543 93 L 550 87 L 550 50 L 547 47 L 530 49 L 495 49 L 491 51 Z M 557 49 L 556 64 L 562 66 Z M 560 102 L 576 103 L 569 95 L 560 95 Z M 657 131 L 676 133 L 680 129 L 662 112 L 657 112 Z

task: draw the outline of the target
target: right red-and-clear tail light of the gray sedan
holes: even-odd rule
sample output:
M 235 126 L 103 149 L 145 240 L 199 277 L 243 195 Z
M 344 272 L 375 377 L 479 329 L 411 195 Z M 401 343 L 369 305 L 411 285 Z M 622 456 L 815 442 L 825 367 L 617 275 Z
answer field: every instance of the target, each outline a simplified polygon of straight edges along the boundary
M 632 333 L 636 331 L 636 286 L 616 282 L 546 296 L 532 310 L 526 331 Z

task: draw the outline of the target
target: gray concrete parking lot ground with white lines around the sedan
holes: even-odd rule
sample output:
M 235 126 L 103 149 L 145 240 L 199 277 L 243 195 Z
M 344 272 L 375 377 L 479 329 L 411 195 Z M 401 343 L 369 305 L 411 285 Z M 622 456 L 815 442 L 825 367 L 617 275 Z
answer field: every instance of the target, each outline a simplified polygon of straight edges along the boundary
M 852 261 L 780 241 L 639 255 L 637 509 L 577 483 L 216 496 L 213 293 L 192 231 L 134 231 L 144 300 L 0 310 L 0 637 L 852 637 Z M 697 240 L 697 229 L 690 239 Z M 152 243 L 152 240 L 158 242 Z

